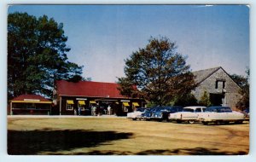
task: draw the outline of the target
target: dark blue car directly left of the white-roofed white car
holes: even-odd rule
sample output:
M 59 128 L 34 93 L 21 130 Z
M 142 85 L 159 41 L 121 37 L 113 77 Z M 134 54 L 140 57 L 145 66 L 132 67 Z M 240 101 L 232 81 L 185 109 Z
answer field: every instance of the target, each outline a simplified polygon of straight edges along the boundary
M 159 107 L 152 113 L 151 119 L 157 119 L 159 121 L 169 120 L 170 113 L 176 113 L 183 111 L 183 107 L 172 106 L 172 107 Z

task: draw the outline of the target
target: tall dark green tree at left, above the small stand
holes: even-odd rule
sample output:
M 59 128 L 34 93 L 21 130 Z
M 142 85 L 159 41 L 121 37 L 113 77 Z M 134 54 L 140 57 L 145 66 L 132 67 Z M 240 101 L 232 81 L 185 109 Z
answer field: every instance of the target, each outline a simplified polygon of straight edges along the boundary
M 51 96 L 57 79 L 70 79 L 82 67 L 67 61 L 63 24 L 46 15 L 8 15 L 8 95 Z

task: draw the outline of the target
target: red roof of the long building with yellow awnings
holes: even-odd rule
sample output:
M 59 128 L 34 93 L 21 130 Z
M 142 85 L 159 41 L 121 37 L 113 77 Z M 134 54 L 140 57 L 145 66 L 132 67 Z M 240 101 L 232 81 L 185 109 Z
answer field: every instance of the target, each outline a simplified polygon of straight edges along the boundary
M 79 81 L 78 83 L 58 80 L 57 94 L 72 96 L 91 96 L 91 97 L 109 97 L 109 98 L 127 98 L 120 95 L 119 84 L 102 83 L 91 81 Z

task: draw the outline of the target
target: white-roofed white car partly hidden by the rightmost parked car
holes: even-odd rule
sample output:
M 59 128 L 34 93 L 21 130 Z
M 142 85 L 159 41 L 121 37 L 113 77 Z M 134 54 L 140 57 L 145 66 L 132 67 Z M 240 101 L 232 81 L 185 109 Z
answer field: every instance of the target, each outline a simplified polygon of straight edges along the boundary
M 207 107 L 183 107 L 183 112 L 170 113 L 169 119 L 177 121 L 177 123 L 189 122 L 193 124 L 206 109 Z

